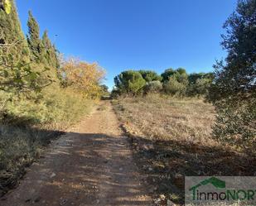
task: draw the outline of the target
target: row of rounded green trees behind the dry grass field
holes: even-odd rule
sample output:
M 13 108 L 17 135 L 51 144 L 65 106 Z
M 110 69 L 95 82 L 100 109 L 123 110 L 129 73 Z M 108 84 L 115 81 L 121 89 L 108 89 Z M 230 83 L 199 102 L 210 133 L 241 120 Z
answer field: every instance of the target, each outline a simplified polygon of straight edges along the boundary
M 123 93 L 167 93 L 179 97 L 205 96 L 212 80 L 211 73 L 187 74 L 186 69 L 182 68 L 166 69 L 161 75 L 152 70 L 129 70 L 114 78 L 113 96 Z M 131 83 L 137 88 L 133 89 Z

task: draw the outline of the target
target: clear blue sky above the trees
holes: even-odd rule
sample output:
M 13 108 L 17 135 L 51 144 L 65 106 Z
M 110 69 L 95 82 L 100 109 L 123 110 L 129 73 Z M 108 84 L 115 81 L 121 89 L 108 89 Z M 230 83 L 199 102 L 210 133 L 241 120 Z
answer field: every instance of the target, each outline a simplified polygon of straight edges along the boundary
M 124 69 L 212 70 L 225 57 L 220 34 L 235 5 L 236 0 L 17 0 L 25 32 L 31 10 L 61 53 L 104 67 L 110 89 Z

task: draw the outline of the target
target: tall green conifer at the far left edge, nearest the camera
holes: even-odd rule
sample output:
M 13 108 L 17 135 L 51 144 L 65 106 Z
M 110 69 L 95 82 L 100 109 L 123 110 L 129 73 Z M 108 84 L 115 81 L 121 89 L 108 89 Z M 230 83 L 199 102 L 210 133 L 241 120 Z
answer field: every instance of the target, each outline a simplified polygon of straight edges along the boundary
M 10 3 L 12 10 L 9 14 L 0 9 L 0 90 L 27 95 L 31 91 L 40 91 L 51 80 L 39 81 L 46 68 L 31 68 L 30 50 L 21 30 L 16 7 L 13 2 Z

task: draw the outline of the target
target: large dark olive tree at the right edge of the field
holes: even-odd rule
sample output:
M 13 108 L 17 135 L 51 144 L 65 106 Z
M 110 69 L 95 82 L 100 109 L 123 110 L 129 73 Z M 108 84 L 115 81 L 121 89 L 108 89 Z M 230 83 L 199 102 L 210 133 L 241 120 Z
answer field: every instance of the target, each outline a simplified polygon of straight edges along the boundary
M 241 0 L 225 22 L 225 63 L 215 65 L 208 98 L 218 112 L 215 138 L 255 149 L 256 137 L 256 0 Z

